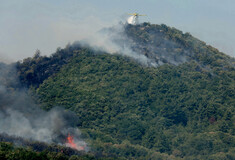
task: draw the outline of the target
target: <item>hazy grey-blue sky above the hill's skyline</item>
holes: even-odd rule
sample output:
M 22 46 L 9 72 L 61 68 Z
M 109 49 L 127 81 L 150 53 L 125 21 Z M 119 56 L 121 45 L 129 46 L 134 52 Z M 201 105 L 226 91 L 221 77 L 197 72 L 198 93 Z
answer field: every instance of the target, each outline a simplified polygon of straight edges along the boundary
M 124 21 L 166 24 L 235 57 L 235 0 L 0 0 L 0 61 L 55 52 Z

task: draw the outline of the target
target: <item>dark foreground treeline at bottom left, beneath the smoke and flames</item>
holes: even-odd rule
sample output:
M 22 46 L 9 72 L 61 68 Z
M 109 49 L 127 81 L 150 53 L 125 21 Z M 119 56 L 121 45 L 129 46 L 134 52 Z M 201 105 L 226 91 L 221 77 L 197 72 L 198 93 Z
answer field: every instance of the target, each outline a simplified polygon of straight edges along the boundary
M 103 158 L 100 158 L 103 157 Z M 111 160 L 104 155 L 76 151 L 57 144 L 46 144 L 21 137 L 0 134 L 1 160 Z

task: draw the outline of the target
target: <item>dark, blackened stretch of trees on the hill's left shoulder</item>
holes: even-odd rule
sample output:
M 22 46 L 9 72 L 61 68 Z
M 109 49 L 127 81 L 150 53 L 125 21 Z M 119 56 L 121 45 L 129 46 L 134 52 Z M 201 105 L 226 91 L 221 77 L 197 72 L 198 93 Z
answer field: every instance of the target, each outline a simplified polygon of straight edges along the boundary
M 73 57 L 74 50 L 80 49 L 79 45 L 68 44 L 65 49 L 58 48 L 50 57 L 41 56 L 37 50 L 31 58 L 17 62 L 16 67 L 20 82 L 26 87 L 38 87 L 45 79 L 57 73 Z

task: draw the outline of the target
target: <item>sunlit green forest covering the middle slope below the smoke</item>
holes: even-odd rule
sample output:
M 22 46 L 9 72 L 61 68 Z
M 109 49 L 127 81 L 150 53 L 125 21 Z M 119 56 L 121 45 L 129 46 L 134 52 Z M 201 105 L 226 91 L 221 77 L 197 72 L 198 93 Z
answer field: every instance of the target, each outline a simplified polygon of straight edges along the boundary
M 212 76 L 193 62 L 146 68 L 120 56 L 83 52 L 44 81 L 37 93 L 46 109 L 59 105 L 76 112 L 79 127 L 104 154 L 210 155 L 227 153 L 232 146 L 204 133 L 229 133 L 234 139 L 234 95 L 228 94 L 234 79 L 228 76 L 231 72 L 221 72 L 223 78 Z M 128 146 L 115 149 L 126 140 L 145 147 L 144 152 L 130 148 L 141 155 L 126 153 Z

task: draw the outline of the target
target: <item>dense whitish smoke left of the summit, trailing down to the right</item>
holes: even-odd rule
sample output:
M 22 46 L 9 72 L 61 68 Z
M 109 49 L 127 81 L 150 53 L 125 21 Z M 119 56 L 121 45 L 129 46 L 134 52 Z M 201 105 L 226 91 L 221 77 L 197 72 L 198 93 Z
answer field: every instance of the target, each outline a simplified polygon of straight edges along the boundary
M 157 64 L 154 60 L 132 49 L 133 41 L 125 33 L 126 25 L 127 22 L 125 19 L 124 22 L 120 21 L 117 25 L 100 29 L 93 35 L 80 40 L 79 43 L 88 44 L 93 49 L 103 50 L 110 54 L 131 57 L 145 66 L 156 67 Z

